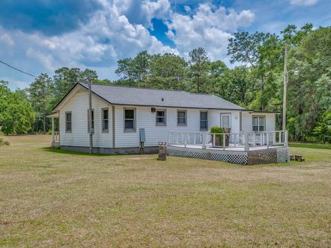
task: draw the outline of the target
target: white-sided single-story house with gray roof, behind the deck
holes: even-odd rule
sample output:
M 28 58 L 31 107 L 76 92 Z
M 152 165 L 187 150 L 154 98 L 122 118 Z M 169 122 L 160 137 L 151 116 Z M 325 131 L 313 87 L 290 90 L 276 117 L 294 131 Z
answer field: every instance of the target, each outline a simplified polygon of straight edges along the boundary
M 88 103 L 88 85 L 77 83 L 48 116 L 53 124 L 59 118 L 53 143 L 61 149 L 88 152 Z M 232 133 L 274 131 L 276 114 L 246 110 L 211 94 L 92 85 L 95 153 L 137 154 L 142 132 L 144 152 L 152 153 L 169 132 L 208 132 L 213 126 L 230 127 Z

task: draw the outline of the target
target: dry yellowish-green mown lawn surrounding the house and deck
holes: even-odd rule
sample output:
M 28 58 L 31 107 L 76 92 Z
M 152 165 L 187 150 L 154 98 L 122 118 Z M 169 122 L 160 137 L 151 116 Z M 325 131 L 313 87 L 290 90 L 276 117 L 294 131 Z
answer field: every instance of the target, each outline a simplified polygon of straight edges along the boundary
M 0 147 L 0 247 L 331 247 L 331 150 L 304 163 Z

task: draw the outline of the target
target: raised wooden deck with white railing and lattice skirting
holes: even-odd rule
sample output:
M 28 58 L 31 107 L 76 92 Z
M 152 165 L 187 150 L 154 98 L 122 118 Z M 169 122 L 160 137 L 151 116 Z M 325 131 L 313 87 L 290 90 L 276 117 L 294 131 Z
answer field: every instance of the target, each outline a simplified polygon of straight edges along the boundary
M 208 132 L 170 133 L 168 156 L 203 158 L 243 165 L 261 163 L 287 163 L 289 161 L 287 131 L 222 134 L 223 143 L 228 135 L 228 145 L 215 145 L 215 135 Z

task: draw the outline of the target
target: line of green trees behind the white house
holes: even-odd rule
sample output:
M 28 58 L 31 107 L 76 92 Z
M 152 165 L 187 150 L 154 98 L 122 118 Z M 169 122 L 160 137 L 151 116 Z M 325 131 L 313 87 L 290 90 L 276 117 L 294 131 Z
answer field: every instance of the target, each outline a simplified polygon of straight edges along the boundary
M 151 87 L 215 94 L 250 110 L 282 111 L 284 47 L 288 46 L 287 129 L 294 141 L 331 142 L 331 28 L 313 29 L 311 23 L 288 25 L 280 35 L 238 32 L 229 39 L 231 67 L 210 61 L 203 48 L 192 50 L 188 59 L 177 54 L 139 52 L 118 61 L 119 80 L 99 80 L 97 72 L 60 68 L 51 78 L 41 74 L 26 90 L 10 92 L 1 81 L 2 132 L 47 132 L 46 118 L 52 107 L 77 82 Z M 299 75 L 292 72 L 298 68 Z M 14 100 L 15 99 L 15 100 Z M 12 105 L 19 105 L 12 110 Z M 7 107 L 4 107 L 7 106 Z M 15 121 L 10 113 L 21 111 Z M 6 114 L 7 113 L 7 114 Z M 16 113 L 16 112 L 15 112 Z M 10 116 L 11 115 L 11 116 Z M 21 117 L 20 117 L 21 116 Z M 277 117 L 281 123 L 281 115 Z M 24 127 L 22 126 L 24 125 Z M 280 125 L 279 125 L 280 128 Z

